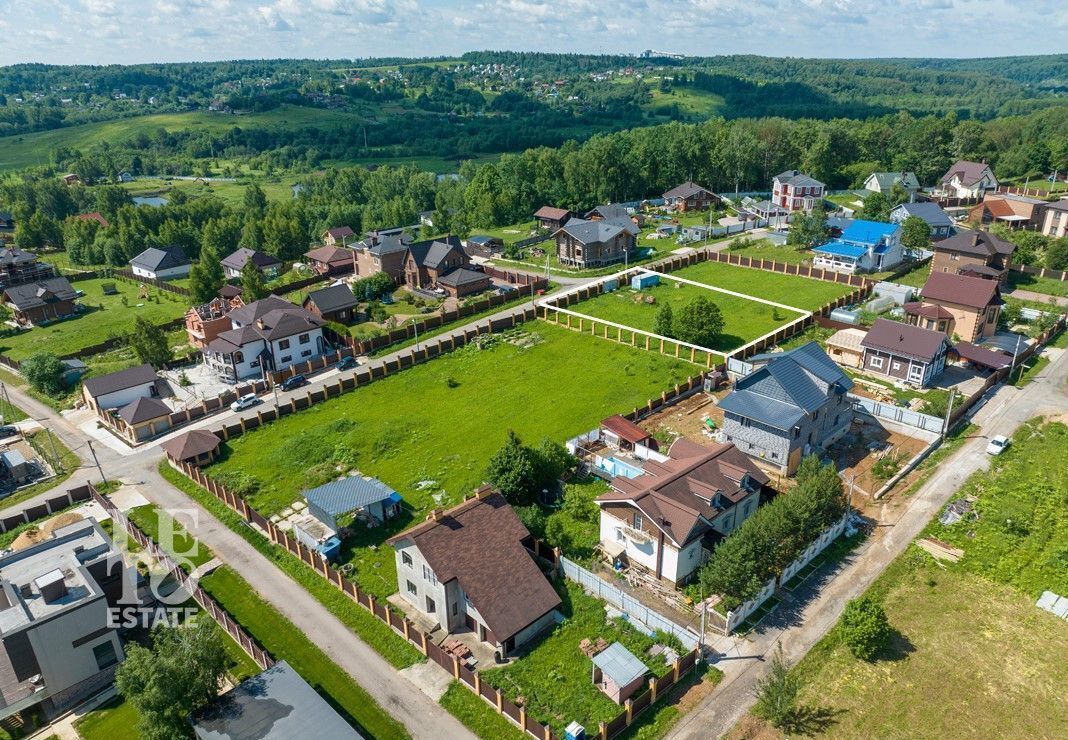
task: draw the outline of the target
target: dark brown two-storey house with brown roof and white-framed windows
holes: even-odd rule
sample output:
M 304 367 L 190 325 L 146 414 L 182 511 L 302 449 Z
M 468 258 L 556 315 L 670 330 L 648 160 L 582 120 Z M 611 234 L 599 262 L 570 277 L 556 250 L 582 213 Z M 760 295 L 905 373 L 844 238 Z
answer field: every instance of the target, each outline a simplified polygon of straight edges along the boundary
M 878 318 L 861 346 L 866 373 L 925 388 L 945 369 L 949 340 L 941 331 Z

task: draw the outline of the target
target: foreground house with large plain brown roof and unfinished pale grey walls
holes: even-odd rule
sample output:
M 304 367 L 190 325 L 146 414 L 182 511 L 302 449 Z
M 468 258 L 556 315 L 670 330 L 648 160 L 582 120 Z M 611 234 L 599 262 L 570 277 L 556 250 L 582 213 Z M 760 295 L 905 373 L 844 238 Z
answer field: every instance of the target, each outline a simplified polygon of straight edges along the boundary
M 488 487 L 435 509 L 389 540 L 399 596 L 445 632 L 470 630 L 506 657 L 560 616 L 560 596 L 522 545 L 528 537 L 504 497 Z

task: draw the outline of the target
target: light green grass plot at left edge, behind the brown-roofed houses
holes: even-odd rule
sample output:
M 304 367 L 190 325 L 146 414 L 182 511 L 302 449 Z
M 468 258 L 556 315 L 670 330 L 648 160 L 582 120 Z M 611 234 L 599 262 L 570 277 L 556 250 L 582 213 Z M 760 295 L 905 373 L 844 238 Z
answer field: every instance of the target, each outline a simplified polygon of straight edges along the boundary
M 116 293 L 104 295 L 104 283 L 113 284 Z M 13 360 L 25 360 L 40 351 L 75 355 L 112 336 L 128 334 L 138 316 L 153 324 L 166 324 L 183 316 L 189 308 L 187 299 L 155 288 L 148 288 L 148 299 L 141 300 L 138 298 L 138 286 L 123 280 L 83 280 L 73 285 L 75 289 L 84 292 L 78 302 L 85 311 L 74 318 L 2 337 L 0 352 Z M 123 299 L 126 299 L 126 305 Z

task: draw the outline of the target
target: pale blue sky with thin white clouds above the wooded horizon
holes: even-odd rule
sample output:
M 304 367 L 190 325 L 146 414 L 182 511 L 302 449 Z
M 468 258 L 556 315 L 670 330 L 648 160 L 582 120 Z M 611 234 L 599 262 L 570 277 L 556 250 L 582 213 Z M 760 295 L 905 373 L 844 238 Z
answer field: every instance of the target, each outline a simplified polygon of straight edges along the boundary
M 1000 57 L 1068 52 L 1068 0 L 0 0 L 0 64 L 469 50 Z

